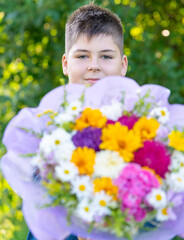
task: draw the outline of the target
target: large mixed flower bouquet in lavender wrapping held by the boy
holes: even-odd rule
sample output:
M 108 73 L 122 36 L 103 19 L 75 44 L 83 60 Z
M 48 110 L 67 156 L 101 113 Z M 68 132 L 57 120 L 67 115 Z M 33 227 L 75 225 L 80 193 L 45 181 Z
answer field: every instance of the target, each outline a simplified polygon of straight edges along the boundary
M 5 177 L 39 240 L 169 240 L 183 231 L 184 106 L 108 77 L 48 93 L 13 118 Z

